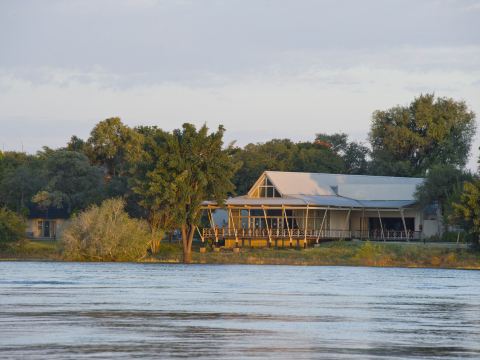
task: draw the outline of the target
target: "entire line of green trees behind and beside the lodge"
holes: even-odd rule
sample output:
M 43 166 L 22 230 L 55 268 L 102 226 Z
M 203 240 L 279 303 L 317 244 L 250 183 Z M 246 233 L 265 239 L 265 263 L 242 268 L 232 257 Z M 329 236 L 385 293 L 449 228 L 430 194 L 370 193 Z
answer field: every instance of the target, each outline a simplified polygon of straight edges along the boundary
M 121 197 L 129 214 L 145 218 L 152 231 L 188 223 L 185 238 L 193 236 L 201 200 L 244 194 L 265 170 L 427 176 L 419 199 L 438 201 L 478 234 L 479 181 L 465 171 L 475 130 L 475 114 L 463 101 L 433 94 L 373 112 L 366 143 L 319 133 L 306 142 L 225 146 L 223 127 L 209 133 L 206 126 L 184 124 L 167 132 L 110 118 L 88 139 L 72 136 L 60 149 L 0 153 L 0 206 L 24 216 L 33 207 L 71 215 Z M 456 216 L 453 203 L 463 204 Z

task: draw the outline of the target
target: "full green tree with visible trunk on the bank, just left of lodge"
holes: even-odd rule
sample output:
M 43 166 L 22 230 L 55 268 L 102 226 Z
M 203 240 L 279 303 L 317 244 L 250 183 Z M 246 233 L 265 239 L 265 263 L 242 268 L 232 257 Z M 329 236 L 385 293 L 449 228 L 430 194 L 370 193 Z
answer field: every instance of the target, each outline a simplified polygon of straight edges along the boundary
M 192 241 L 200 223 L 204 200 L 222 204 L 234 185 L 237 168 L 223 149 L 225 129 L 220 126 L 209 134 L 206 125 L 200 129 L 183 124 L 182 129 L 165 134 L 151 160 L 152 169 L 137 178 L 134 191 L 142 202 L 155 199 L 155 208 L 167 212 L 181 229 L 183 259 L 191 262 Z

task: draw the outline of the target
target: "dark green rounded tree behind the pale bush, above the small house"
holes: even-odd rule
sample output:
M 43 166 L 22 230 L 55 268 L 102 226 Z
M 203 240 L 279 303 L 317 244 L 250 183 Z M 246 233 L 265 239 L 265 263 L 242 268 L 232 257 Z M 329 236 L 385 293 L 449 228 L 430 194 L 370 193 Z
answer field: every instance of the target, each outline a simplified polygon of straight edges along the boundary
M 33 196 L 39 206 L 65 209 L 69 214 L 98 202 L 102 196 L 102 171 L 81 153 L 57 150 L 44 157 L 45 185 Z

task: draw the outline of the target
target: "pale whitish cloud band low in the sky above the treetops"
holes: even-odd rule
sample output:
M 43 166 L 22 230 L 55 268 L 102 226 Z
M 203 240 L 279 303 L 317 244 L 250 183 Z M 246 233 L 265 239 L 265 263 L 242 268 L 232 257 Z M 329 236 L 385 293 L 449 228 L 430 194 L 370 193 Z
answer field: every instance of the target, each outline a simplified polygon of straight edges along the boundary
M 132 126 L 168 130 L 183 122 L 223 124 L 227 139 L 241 145 L 272 137 L 311 140 L 317 132 L 336 131 L 365 140 L 374 110 L 408 104 L 425 92 L 466 100 L 480 113 L 480 69 L 317 65 L 303 71 L 234 74 L 193 85 L 129 86 L 118 86 L 121 74 L 100 69 L 38 69 L 37 75 L 32 80 L 25 74 L 0 72 L 0 143 L 7 148 L 19 149 L 20 135 L 29 151 L 61 146 L 73 134 L 86 137 L 96 122 L 111 116 Z M 475 167 L 474 160 L 470 166 Z

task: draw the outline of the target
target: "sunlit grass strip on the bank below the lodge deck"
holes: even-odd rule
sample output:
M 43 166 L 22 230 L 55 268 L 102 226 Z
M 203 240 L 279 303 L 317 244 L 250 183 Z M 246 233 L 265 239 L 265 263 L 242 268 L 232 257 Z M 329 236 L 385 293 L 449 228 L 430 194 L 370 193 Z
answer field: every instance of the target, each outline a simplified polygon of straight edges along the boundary
M 169 255 L 156 256 L 157 261 L 181 261 L 181 248 Z M 200 264 L 271 264 L 271 265 L 350 265 L 385 267 L 433 267 L 480 269 L 480 252 L 468 248 L 445 247 L 442 244 L 389 244 L 336 241 L 317 248 L 296 249 L 230 249 L 219 252 L 193 253 Z

